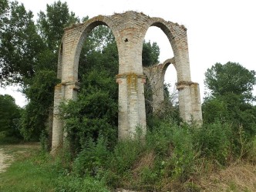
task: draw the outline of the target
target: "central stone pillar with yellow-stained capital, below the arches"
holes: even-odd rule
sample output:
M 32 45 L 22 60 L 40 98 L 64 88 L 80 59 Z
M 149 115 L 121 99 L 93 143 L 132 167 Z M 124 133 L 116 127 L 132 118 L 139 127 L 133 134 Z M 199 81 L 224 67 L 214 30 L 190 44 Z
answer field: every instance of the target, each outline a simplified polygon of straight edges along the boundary
M 119 83 L 118 139 L 133 138 L 136 126 L 146 133 L 146 113 L 143 74 L 123 73 L 116 76 Z

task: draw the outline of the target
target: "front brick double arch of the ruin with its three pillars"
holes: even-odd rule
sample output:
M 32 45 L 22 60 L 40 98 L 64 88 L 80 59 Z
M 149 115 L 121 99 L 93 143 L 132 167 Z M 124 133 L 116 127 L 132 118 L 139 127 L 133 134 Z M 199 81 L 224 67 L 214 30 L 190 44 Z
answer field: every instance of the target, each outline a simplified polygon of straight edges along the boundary
M 190 121 L 192 114 L 190 85 L 190 66 L 187 49 L 187 33 L 184 26 L 166 22 L 160 18 L 150 18 L 143 13 L 124 12 L 110 16 L 99 15 L 83 24 L 65 29 L 59 50 L 58 78 L 61 79 L 55 88 L 54 116 L 52 124 L 52 150 L 62 145 L 65 135 L 62 120 L 59 119 L 59 103 L 64 99 L 76 99 L 78 83 L 79 56 L 83 43 L 89 32 L 98 25 L 106 25 L 116 39 L 119 55 L 119 118 L 118 136 L 120 140 L 134 136 L 136 126 L 140 125 L 146 133 L 146 114 L 142 66 L 143 39 L 150 26 L 163 30 L 170 41 L 177 65 L 180 102 L 180 114 L 185 121 Z M 200 97 L 199 97 L 200 98 Z M 184 113 L 183 113 L 184 111 Z

